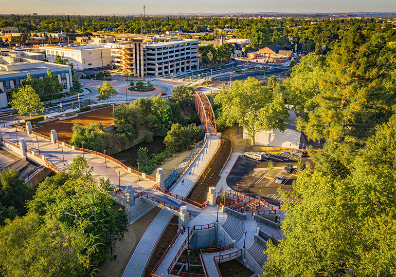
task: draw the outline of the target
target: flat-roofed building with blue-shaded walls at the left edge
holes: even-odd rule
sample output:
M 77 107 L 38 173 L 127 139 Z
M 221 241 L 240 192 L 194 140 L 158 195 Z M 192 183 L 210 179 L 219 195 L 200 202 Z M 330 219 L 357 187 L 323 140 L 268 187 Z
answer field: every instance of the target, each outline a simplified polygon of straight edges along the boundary
M 62 93 L 70 90 L 73 86 L 71 67 L 43 62 L 42 55 L 22 51 L 0 53 L 0 107 L 7 107 L 7 102 L 12 100 L 11 89 L 21 87 L 28 73 L 35 78 L 43 78 L 49 69 L 53 75 L 58 76 L 63 86 Z

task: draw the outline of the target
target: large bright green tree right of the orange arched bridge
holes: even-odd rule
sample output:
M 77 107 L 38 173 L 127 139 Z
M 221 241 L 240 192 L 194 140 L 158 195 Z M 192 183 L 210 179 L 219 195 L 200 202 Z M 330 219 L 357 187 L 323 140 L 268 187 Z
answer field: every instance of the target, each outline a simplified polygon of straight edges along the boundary
M 252 144 L 258 130 L 284 131 L 289 118 L 281 96 L 274 95 L 252 77 L 243 82 L 235 81 L 228 91 L 220 91 L 214 103 L 221 105 L 219 121 L 227 127 L 235 123 L 243 126 Z

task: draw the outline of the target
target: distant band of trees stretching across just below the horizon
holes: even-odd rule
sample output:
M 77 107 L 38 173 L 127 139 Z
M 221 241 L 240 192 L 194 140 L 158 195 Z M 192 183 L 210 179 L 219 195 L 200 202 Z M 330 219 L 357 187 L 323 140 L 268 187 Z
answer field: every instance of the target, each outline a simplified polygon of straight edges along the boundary
M 264 19 L 242 16 L 146 16 L 143 29 L 149 34 L 182 30 L 184 32 L 212 32 L 239 38 L 250 38 L 253 48 L 279 45 L 299 52 L 325 53 L 343 33 L 359 25 L 365 32 L 387 32 L 392 25 L 381 18 L 301 18 Z M 140 33 L 140 17 L 134 16 L 30 16 L 1 15 L 0 27 L 19 27 L 23 32 L 76 33 L 110 31 Z M 217 31 L 220 29 L 222 31 Z M 203 39 L 207 39 L 205 36 Z M 323 47 L 326 46 L 326 47 Z

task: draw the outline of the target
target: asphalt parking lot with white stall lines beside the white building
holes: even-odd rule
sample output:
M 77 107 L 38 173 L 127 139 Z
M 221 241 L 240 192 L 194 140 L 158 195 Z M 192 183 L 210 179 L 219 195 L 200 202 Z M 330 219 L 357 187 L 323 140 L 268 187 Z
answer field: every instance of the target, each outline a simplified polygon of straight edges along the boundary
M 311 164 L 309 157 L 300 158 L 289 153 L 271 154 L 269 160 L 261 162 L 240 156 L 228 174 L 227 184 L 230 188 L 253 197 L 259 195 L 260 190 L 261 195 L 275 195 L 274 197 L 276 197 L 277 189 L 280 186 L 275 182 L 275 178 L 278 176 L 284 177 L 281 184 L 283 189 L 293 190 L 292 184 L 297 179 L 296 170 L 290 174 L 284 172 L 283 169 L 287 164 L 292 164 L 296 168 L 298 160 L 307 166 Z M 265 176 L 268 173 L 269 161 L 274 163 L 272 175 L 275 178 Z

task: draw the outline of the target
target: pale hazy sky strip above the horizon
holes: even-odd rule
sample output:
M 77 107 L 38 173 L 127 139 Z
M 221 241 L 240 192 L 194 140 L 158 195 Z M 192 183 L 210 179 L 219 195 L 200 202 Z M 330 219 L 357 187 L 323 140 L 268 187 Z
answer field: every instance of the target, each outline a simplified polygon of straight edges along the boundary
M 7 4 L 5 4 L 7 2 Z M 0 13 L 396 12 L 394 0 L 0 0 Z

